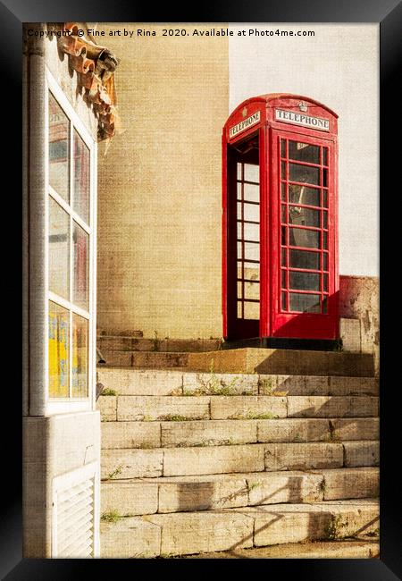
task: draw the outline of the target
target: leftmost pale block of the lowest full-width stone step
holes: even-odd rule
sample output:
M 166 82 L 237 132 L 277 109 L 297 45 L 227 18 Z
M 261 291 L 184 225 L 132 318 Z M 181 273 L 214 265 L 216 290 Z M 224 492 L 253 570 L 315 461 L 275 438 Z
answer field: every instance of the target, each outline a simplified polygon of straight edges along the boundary
M 161 529 L 143 518 L 121 518 L 117 523 L 101 522 L 101 557 L 133 559 L 158 557 Z

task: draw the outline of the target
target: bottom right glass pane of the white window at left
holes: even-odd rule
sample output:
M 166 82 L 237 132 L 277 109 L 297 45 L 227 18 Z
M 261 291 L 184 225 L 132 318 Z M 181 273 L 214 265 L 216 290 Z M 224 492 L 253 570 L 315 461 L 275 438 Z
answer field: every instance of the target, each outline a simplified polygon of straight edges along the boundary
M 72 314 L 72 397 L 88 397 L 88 320 Z

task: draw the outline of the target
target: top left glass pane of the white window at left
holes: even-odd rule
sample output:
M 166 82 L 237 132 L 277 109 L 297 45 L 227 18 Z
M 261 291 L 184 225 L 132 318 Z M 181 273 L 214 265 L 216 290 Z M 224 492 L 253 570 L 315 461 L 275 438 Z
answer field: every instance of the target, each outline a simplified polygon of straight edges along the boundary
M 69 120 L 49 93 L 49 183 L 67 202 L 69 196 Z

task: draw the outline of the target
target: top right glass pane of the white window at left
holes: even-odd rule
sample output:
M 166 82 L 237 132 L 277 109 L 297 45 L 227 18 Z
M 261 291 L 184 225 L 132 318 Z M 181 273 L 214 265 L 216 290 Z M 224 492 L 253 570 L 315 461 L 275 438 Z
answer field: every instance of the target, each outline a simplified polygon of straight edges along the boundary
M 74 193 L 73 208 L 77 214 L 89 223 L 89 149 L 74 130 Z

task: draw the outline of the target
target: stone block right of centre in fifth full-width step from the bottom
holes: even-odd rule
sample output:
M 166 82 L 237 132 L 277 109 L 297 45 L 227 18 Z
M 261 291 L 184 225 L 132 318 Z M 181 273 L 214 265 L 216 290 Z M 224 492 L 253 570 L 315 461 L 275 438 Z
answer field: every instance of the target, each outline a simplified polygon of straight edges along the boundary
M 286 417 L 287 400 L 283 397 L 249 396 L 212 396 L 212 419 L 263 419 Z

